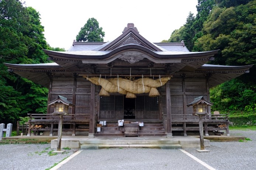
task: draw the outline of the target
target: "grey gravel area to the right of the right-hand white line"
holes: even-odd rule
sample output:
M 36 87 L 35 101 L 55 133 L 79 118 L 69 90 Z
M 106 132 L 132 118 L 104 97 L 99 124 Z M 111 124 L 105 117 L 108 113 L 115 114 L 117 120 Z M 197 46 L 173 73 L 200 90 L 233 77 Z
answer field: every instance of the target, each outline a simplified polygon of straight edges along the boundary
M 230 135 L 245 136 L 252 141 L 211 142 L 211 147 L 205 148 L 210 150 L 208 153 L 198 153 L 195 148 L 184 150 L 218 170 L 255 170 L 256 131 L 231 130 Z

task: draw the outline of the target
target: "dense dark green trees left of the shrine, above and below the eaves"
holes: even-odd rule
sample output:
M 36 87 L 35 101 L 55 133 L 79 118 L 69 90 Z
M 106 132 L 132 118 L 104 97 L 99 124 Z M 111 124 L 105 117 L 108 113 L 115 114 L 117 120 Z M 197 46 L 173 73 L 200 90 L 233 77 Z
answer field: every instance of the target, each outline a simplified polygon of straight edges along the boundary
M 18 0 L 0 0 L 0 123 L 15 123 L 27 113 L 46 113 L 48 89 L 7 71 L 3 63 L 46 63 L 40 14 Z

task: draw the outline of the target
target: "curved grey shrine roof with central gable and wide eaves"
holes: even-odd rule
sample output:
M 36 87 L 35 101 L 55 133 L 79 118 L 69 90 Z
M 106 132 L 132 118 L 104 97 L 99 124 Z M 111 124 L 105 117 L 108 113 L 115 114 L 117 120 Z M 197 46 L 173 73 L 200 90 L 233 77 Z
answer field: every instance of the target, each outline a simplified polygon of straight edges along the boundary
M 143 74 L 180 77 L 209 77 L 209 86 L 221 84 L 249 71 L 252 65 L 226 66 L 206 64 L 218 50 L 189 52 L 180 43 L 151 43 L 133 24 L 111 42 L 73 42 L 66 52 L 44 50 L 55 63 L 6 64 L 9 71 L 43 86 L 52 75 Z

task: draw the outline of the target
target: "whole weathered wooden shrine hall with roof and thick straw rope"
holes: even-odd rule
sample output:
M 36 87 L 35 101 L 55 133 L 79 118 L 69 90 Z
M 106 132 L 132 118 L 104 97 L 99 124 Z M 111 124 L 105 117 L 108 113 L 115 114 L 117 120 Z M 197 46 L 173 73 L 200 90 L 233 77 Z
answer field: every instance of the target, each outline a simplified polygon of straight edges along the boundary
M 196 133 L 198 116 L 186 105 L 200 96 L 210 102 L 210 88 L 252 67 L 206 64 L 218 50 L 189 52 L 183 41 L 151 43 L 132 23 L 110 42 L 74 41 L 66 52 L 44 52 L 52 63 L 5 65 L 49 88 L 48 102 L 63 96 L 74 104 L 63 119 L 63 132 L 72 135 L 129 135 L 131 127 L 130 135 L 138 136 Z M 58 118 L 47 107 L 47 114 L 30 114 L 29 123 L 53 135 Z M 207 112 L 205 134 L 228 134 L 228 118 L 212 114 L 210 106 Z

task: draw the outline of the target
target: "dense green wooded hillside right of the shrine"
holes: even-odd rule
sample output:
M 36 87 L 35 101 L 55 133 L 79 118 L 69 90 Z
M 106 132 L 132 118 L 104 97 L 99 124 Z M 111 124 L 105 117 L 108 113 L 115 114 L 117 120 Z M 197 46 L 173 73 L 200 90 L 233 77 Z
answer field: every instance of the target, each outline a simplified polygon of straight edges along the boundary
M 256 0 L 198 0 L 197 15 L 168 42 L 180 42 L 191 51 L 218 50 L 209 64 L 250 65 L 244 74 L 210 90 L 212 110 L 256 113 Z

